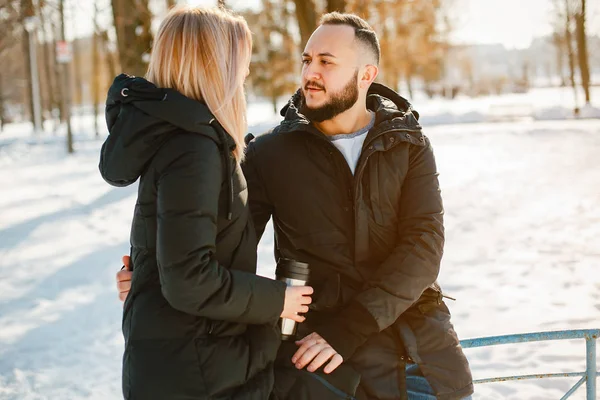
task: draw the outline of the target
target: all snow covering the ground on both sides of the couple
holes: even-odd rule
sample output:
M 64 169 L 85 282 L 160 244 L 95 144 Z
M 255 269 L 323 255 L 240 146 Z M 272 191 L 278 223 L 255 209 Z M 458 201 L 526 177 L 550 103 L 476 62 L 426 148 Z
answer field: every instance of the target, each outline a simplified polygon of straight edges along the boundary
M 414 103 L 436 115 L 431 103 Z M 459 115 L 474 105 L 444 107 Z M 259 104 L 249 120 L 260 132 L 277 117 Z M 446 206 L 440 282 L 457 298 L 448 303 L 460 337 L 600 328 L 600 120 L 423 122 Z M 0 134 L 2 400 L 120 398 L 114 275 L 129 251 L 136 188 L 104 183 L 91 118 L 74 126 L 72 156 L 62 137 L 32 139 L 25 125 Z M 260 246 L 263 275 L 274 268 L 270 232 Z M 584 349 L 564 341 L 467 355 L 484 378 L 582 371 Z M 478 385 L 475 398 L 558 399 L 575 380 Z

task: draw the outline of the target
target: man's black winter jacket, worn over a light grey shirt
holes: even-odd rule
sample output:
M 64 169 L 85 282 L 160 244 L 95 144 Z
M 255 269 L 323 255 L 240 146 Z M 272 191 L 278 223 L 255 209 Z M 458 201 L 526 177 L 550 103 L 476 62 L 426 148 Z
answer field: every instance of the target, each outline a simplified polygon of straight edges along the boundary
M 250 142 L 243 169 L 258 236 L 272 216 L 277 256 L 311 266 L 314 304 L 300 333 L 316 331 L 352 363 L 369 337 L 394 331 L 403 343 L 398 357 L 419 364 L 438 398 L 471 394 L 468 362 L 436 283 L 443 205 L 418 115 L 373 84 L 367 107 L 375 125 L 353 175 L 298 112 L 299 102 L 297 93 L 281 124 Z

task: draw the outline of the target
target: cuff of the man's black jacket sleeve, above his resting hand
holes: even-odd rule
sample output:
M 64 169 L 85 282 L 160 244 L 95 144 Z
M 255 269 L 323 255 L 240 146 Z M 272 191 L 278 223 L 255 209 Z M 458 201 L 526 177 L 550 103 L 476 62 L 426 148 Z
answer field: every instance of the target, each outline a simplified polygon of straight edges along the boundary
M 369 336 L 379 332 L 379 326 L 365 307 L 353 301 L 315 330 L 347 361 Z

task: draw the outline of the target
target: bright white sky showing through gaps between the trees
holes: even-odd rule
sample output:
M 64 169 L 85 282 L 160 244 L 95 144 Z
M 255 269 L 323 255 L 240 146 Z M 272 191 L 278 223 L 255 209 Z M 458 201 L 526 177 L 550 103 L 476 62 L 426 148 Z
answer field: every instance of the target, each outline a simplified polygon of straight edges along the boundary
M 453 4 L 452 41 L 456 44 L 496 44 L 526 48 L 532 39 L 552 32 L 554 0 L 445 0 Z M 87 3 L 87 4 L 86 4 Z M 89 34 L 92 2 L 77 2 L 77 36 Z M 107 2 L 108 3 L 108 2 Z M 213 6 L 216 0 L 187 0 L 188 4 Z M 234 8 L 259 7 L 260 0 L 227 0 Z M 587 30 L 600 35 L 600 1 L 587 1 Z M 71 36 L 71 35 L 69 35 Z

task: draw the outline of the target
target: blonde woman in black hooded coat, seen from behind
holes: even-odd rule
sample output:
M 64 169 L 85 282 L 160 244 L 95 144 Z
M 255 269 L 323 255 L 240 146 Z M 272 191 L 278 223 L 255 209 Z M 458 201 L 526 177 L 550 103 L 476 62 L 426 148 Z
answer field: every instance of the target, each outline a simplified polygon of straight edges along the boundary
M 246 22 L 178 8 L 156 36 L 147 80 L 108 93 L 106 181 L 140 178 L 124 305 L 126 399 L 267 399 L 280 317 L 298 322 L 309 287 L 256 272 L 246 205 Z

